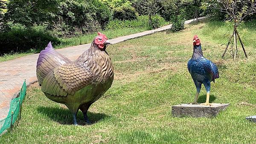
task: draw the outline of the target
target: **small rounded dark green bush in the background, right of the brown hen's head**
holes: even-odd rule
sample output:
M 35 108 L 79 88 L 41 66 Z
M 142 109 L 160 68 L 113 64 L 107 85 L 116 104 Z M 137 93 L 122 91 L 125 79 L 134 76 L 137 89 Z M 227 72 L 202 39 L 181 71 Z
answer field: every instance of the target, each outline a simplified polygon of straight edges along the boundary
M 113 10 L 113 18 L 117 20 L 135 20 L 137 14 L 133 7 L 121 6 Z

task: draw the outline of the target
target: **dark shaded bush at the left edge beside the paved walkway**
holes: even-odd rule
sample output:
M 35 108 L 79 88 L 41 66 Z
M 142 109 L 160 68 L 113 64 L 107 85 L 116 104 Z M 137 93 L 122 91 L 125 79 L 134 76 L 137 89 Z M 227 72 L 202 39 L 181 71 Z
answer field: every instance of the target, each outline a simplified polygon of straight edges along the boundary
M 10 52 L 25 52 L 30 49 L 41 50 L 49 41 L 61 41 L 46 30 L 46 26 L 26 27 L 21 24 L 10 26 L 9 32 L 0 33 L 0 55 Z

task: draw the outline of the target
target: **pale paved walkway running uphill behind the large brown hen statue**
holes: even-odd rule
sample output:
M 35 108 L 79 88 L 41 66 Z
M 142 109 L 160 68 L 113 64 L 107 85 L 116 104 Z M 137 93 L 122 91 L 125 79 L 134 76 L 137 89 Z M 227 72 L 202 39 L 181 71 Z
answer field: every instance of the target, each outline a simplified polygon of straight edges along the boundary
M 199 19 L 201 20 L 204 18 L 205 17 L 200 17 Z M 186 20 L 185 24 L 191 23 L 192 21 L 193 20 Z M 141 37 L 144 35 L 152 34 L 154 32 L 164 31 L 166 29 L 170 29 L 171 26 L 172 25 L 163 26 L 161 28 L 150 31 L 113 38 L 110 40 L 110 42 L 112 44 L 119 43 L 135 37 Z M 47 43 L 45 45 L 47 45 Z M 57 49 L 57 51 L 62 55 L 65 55 L 67 58 L 70 58 L 70 60 L 75 60 L 89 47 L 90 43 L 79 46 L 70 46 L 64 49 Z M 39 54 L 27 55 L 21 58 L 0 63 L 0 120 L 7 116 L 10 101 L 15 96 L 15 94 L 19 92 L 24 79 L 26 79 L 27 84 L 37 81 L 36 62 L 38 55 Z

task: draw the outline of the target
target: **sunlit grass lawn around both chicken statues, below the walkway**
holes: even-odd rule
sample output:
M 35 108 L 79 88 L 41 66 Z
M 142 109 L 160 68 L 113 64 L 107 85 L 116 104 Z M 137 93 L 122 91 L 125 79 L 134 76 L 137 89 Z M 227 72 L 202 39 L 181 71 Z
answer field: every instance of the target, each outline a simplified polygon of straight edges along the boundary
M 0 138 L 10 143 L 144 143 L 230 144 L 255 143 L 256 28 L 240 30 L 249 59 L 239 47 L 238 60 L 221 59 L 230 28 L 221 22 L 186 25 L 177 33 L 159 32 L 107 48 L 115 78 L 111 89 L 89 109 L 93 122 L 85 125 L 78 113 L 74 126 L 70 111 L 47 99 L 37 85 L 29 87 L 22 119 Z M 231 28 L 232 29 L 232 28 Z M 195 86 L 187 70 L 192 37 L 201 39 L 204 56 L 217 63 L 220 78 L 212 83 L 210 102 L 230 103 L 216 118 L 173 118 L 172 105 L 194 100 Z M 205 102 L 202 87 L 199 102 Z

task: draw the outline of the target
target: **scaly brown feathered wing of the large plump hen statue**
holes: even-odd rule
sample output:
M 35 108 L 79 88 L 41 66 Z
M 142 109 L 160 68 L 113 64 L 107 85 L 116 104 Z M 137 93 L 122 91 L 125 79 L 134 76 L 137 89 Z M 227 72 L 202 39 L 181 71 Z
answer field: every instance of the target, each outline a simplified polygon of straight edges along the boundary
M 42 91 L 57 96 L 74 95 L 92 80 L 93 75 L 85 64 L 63 64 L 47 75 L 42 84 Z

